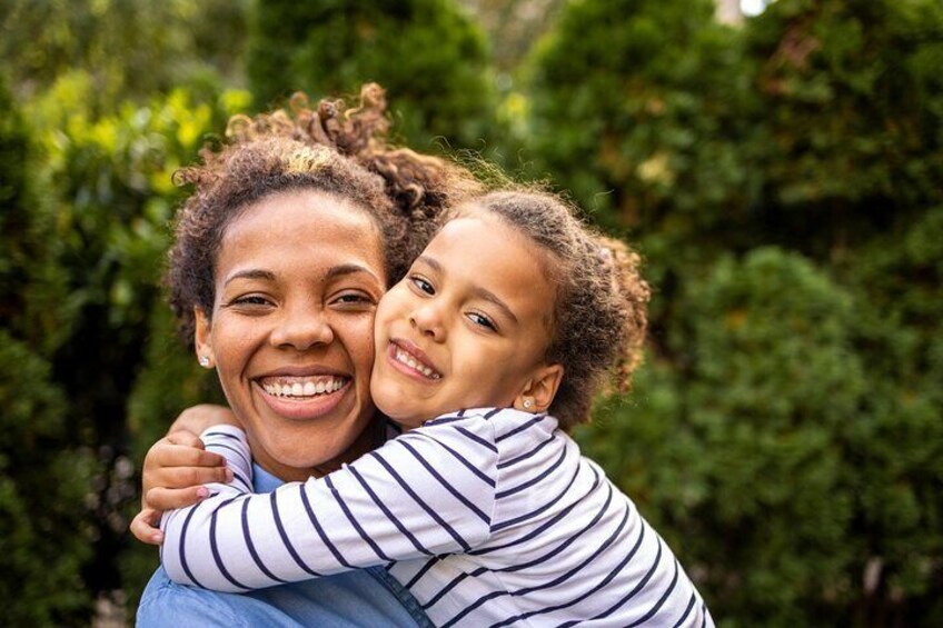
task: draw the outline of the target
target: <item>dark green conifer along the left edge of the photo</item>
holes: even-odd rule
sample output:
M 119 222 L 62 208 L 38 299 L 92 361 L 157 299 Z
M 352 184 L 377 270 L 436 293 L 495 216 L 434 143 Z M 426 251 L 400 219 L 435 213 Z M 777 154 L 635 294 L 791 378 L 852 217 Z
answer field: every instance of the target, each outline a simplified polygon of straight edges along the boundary
M 68 430 L 68 405 L 40 340 L 70 312 L 53 239 L 29 176 L 33 146 L 0 81 L 0 624 L 54 626 L 87 616 L 93 458 Z

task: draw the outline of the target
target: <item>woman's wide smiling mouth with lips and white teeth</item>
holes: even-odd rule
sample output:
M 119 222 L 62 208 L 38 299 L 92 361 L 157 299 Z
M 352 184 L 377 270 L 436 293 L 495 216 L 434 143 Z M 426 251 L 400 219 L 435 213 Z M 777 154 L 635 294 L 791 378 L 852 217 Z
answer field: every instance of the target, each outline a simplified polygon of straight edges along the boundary
M 269 376 L 252 380 L 252 386 L 276 415 L 311 420 L 334 410 L 350 382 L 350 378 L 340 376 Z

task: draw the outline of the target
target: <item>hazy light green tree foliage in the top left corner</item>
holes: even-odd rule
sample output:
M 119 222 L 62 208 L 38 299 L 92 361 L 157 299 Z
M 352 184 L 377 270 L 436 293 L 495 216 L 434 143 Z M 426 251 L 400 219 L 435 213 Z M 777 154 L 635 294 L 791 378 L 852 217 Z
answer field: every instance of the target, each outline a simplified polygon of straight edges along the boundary
M 0 0 L 0 58 L 18 91 L 83 70 L 109 109 L 185 82 L 231 76 L 248 0 Z

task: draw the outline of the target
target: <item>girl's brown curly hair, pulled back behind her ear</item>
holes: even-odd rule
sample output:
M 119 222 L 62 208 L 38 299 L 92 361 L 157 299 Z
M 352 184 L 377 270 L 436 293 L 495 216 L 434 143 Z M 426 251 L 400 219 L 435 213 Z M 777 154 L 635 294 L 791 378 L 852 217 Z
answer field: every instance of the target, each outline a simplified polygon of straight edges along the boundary
M 590 229 L 555 195 L 490 192 L 449 213 L 478 211 L 498 217 L 546 255 L 556 286 L 546 360 L 564 367 L 549 411 L 569 430 L 589 420 L 597 392 L 608 387 L 627 391 L 642 361 L 651 290 L 639 273 L 641 257 Z

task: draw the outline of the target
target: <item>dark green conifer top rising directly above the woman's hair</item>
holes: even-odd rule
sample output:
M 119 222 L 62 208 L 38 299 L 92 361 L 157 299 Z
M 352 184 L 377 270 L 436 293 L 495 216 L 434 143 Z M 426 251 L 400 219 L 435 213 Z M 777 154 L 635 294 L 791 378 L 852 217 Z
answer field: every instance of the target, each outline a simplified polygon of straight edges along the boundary
M 261 107 L 297 90 L 356 94 L 378 82 L 397 132 L 420 150 L 435 138 L 476 147 L 494 107 L 484 34 L 450 0 L 261 2 L 247 70 Z

